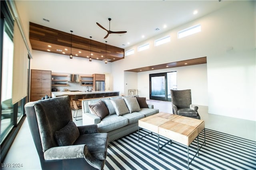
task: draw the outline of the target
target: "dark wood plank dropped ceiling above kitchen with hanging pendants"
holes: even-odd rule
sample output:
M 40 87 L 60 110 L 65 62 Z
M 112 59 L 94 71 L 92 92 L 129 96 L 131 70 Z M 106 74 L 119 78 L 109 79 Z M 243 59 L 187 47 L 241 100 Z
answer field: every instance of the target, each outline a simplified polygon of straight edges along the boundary
M 72 33 L 72 55 L 74 57 L 90 57 L 90 38 L 84 38 Z M 29 39 L 33 50 L 67 55 L 71 52 L 71 33 L 58 31 L 49 27 L 30 22 Z M 48 47 L 50 45 L 51 47 Z M 66 50 L 65 50 L 66 49 Z M 106 50 L 107 49 L 107 50 Z M 50 50 L 50 51 L 49 51 Z M 91 41 L 92 59 L 109 62 L 124 59 L 124 49 L 106 43 Z

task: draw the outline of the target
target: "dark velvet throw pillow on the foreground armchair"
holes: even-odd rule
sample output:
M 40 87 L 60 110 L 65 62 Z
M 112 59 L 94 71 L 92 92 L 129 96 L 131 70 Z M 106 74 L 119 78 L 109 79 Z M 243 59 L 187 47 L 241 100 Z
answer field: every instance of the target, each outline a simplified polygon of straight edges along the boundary
M 55 132 L 55 139 L 60 147 L 73 145 L 80 133 L 76 124 L 73 121 L 69 121 L 68 124 Z

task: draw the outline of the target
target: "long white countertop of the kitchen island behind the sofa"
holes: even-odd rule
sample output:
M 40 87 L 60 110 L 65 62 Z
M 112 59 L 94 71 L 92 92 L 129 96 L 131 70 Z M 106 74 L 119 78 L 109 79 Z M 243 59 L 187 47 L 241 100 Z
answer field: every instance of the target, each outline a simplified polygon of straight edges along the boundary
M 119 91 L 93 91 L 93 92 L 85 92 L 85 91 L 78 91 L 78 92 L 52 92 L 52 97 L 58 97 L 58 96 L 74 96 L 74 95 L 85 95 L 85 94 L 108 94 L 111 96 L 119 96 Z

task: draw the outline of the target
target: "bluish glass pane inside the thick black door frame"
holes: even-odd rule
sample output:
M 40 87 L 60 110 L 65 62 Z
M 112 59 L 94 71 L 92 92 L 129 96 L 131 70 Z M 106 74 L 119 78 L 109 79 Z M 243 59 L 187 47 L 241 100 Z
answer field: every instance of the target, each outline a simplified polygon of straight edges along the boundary
M 151 96 L 165 97 L 164 76 L 151 77 Z

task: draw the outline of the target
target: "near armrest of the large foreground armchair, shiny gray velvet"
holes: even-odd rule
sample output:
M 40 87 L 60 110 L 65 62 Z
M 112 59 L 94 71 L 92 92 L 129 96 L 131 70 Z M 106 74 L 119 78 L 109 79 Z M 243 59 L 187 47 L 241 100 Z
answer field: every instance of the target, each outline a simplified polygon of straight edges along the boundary
M 45 160 L 85 158 L 86 162 L 97 169 L 102 169 L 102 161 L 94 158 L 88 151 L 87 145 L 70 145 L 52 147 L 44 152 Z

